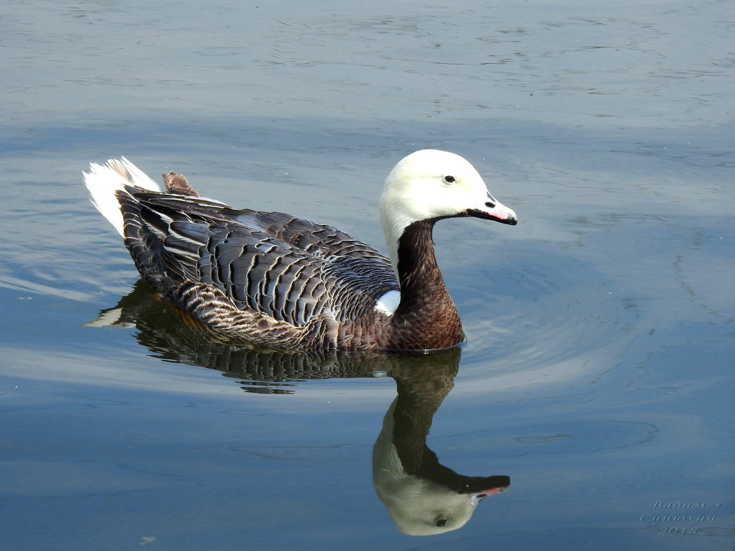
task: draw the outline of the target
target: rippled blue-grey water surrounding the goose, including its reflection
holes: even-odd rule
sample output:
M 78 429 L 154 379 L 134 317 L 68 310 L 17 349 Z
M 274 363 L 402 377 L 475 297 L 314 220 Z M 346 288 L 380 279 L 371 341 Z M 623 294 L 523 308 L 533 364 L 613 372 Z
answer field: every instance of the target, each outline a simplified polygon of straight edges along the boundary
M 732 549 L 729 2 L 6 4 L 4 549 Z M 424 147 L 520 217 L 437 226 L 468 342 L 426 358 L 212 343 L 80 184 L 126 155 L 381 245 Z

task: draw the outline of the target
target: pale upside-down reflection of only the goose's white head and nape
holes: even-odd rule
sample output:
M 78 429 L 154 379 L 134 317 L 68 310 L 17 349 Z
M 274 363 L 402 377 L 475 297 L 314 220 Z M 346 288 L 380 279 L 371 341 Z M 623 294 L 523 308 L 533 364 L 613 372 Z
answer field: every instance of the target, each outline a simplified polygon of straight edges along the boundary
M 373 484 L 378 497 L 398 530 L 409 536 L 432 536 L 461 528 L 483 497 L 504 488 L 459 494 L 440 483 L 406 474 L 392 442 L 397 402 L 398 398 L 388 409 L 373 447 Z

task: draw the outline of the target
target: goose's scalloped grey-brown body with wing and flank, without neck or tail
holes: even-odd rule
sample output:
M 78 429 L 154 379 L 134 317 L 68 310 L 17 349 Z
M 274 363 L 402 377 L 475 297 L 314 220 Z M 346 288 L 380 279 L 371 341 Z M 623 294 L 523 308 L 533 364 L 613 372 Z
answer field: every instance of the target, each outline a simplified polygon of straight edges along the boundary
M 375 347 L 384 334 L 374 306 L 398 289 L 390 260 L 343 231 L 131 186 L 118 200 L 143 278 L 207 325 L 327 350 Z

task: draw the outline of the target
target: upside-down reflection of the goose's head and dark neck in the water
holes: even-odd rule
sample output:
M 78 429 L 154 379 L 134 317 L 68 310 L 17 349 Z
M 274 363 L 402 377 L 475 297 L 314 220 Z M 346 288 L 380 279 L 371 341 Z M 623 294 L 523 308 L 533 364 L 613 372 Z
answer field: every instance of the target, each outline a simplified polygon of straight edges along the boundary
M 507 476 L 459 475 L 426 446 L 431 420 L 451 390 L 459 364 L 414 366 L 391 373 L 398 386 L 373 447 L 373 483 L 401 532 L 430 536 L 456 530 L 484 497 L 505 491 Z M 442 356 L 445 356 L 442 354 Z M 423 369 L 415 369 L 415 367 Z

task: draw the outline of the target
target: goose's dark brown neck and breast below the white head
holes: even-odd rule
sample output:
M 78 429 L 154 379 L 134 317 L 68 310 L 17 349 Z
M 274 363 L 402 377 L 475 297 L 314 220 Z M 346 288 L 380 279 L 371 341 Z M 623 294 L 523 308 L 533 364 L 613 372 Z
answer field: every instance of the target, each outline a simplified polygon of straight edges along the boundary
M 401 303 L 392 326 L 399 347 L 406 350 L 446 348 L 462 341 L 462 324 L 434 256 L 436 221 L 412 223 L 398 239 Z

